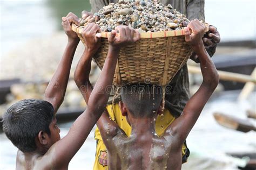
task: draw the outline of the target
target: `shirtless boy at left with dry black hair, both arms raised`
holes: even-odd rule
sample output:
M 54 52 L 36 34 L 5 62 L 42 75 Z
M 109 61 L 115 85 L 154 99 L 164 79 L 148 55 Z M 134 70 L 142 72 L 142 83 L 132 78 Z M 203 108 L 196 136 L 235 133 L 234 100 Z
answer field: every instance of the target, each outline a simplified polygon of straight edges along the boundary
M 99 79 L 92 90 L 87 109 L 73 123 L 68 134 L 62 139 L 56 124 L 55 114 L 63 102 L 69 79 L 70 67 L 79 42 L 77 34 L 71 30 L 71 23 L 78 24 L 78 18 L 69 13 L 63 17 L 63 28 L 68 36 L 65 49 L 55 74 L 45 91 L 45 100 L 23 100 L 12 105 L 4 114 L 3 131 L 11 142 L 18 147 L 16 169 L 68 169 L 70 160 L 83 145 L 91 129 L 105 109 L 112 85 L 114 69 L 120 46 L 132 44 L 139 39 L 134 37 L 134 29 L 119 27 L 123 35 L 116 38 L 116 31 L 109 37 L 109 52 Z M 99 26 L 90 24 L 85 27 L 83 37 L 100 45 Z M 85 53 L 95 51 L 90 43 Z

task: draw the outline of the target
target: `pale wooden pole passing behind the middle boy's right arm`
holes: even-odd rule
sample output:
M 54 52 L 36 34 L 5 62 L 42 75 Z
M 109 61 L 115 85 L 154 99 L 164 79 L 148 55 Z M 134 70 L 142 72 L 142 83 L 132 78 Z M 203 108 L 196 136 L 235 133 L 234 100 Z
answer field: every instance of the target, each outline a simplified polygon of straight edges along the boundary
M 201 69 L 196 66 L 188 66 L 188 72 L 193 74 L 201 74 Z M 220 70 L 218 70 L 218 73 L 219 73 L 220 80 L 235 81 L 235 82 L 241 82 L 241 83 L 246 83 L 246 82 L 253 82 L 254 84 L 256 83 L 256 78 L 251 77 L 250 75 L 224 72 Z

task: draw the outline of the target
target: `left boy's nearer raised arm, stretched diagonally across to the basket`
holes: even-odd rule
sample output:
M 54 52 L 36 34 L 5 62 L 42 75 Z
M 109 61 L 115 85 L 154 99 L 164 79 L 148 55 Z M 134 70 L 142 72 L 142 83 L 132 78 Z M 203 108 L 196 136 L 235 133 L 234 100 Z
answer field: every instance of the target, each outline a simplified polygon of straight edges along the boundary
M 97 27 L 99 31 L 99 27 L 95 24 L 92 24 L 85 28 L 86 30 L 84 30 L 83 34 L 88 35 L 88 32 L 95 30 L 94 27 Z M 95 84 L 95 88 L 91 92 L 91 96 L 87 104 L 87 109 L 76 119 L 70 128 L 69 133 L 63 139 L 57 141 L 52 150 L 49 151 L 50 155 L 54 155 L 52 164 L 56 168 L 61 168 L 69 164 L 73 155 L 75 155 L 75 153 L 83 145 L 91 129 L 97 122 L 100 115 L 102 115 L 102 112 L 105 110 L 110 92 L 106 89 L 107 87 L 112 86 L 113 75 L 116 68 L 120 46 L 130 44 L 137 40 L 136 38 L 131 39 L 130 37 L 127 38 L 125 36 L 125 33 L 128 35 L 130 30 L 119 30 L 121 38 L 115 37 L 115 31 L 112 31 L 112 34 L 109 37 L 109 52 L 103 66 L 102 73 L 100 74 L 99 79 Z M 125 30 L 127 30 L 127 32 L 124 32 Z M 94 38 L 96 42 L 100 41 L 100 39 L 96 37 L 96 32 L 93 33 L 91 39 L 92 38 Z

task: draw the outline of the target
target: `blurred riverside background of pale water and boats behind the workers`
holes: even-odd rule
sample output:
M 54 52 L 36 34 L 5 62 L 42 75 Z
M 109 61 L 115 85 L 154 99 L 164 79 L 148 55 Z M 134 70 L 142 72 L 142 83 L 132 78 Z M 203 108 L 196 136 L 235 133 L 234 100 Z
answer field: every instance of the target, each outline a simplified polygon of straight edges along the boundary
M 61 17 L 69 12 L 80 17 L 80 12 L 90 11 L 91 6 L 89 0 L 0 0 L 0 6 L 1 119 L 10 104 L 24 98 L 43 98 L 67 42 Z M 246 83 L 256 79 L 255 6 L 254 0 L 205 0 L 206 22 L 216 26 L 221 35 L 213 61 L 223 71 L 223 80 L 188 136 L 191 155 L 183 169 L 250 169 L 256 160 L 256 92 L 254 83 Z M 80 43 L 65 100 L 57 114 L 62 137 L 86 108 L 72 78 L 83 49 Z M 93 83 L 99 73 L 93 64 Z M 197 69 L 191 69 L 191 95 L 201 81 Z M 92 169 L 96 148 L 93 137 L 92 131 L 69 169 Z M 2 127 L 0 143 L 0 169 L 15 169 L 17 148 L 6 138 Z

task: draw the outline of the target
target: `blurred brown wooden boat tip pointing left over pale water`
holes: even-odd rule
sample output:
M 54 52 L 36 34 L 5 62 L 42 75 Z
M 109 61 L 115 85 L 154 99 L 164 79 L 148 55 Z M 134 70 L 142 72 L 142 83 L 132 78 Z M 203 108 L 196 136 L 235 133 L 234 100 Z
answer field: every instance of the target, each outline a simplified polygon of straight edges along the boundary
M 256 131 L 256 127 L 252 123 L 244 119 L 236 118 L 230 115 L 224 115 L 217 112 L 215 112 L 213 116 L 221 126 L 224 126 L 226 128 L 245 132 L 245 133 L 251 130 Z

